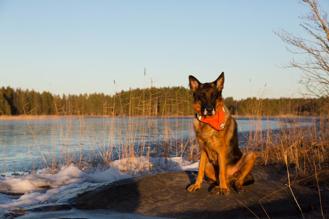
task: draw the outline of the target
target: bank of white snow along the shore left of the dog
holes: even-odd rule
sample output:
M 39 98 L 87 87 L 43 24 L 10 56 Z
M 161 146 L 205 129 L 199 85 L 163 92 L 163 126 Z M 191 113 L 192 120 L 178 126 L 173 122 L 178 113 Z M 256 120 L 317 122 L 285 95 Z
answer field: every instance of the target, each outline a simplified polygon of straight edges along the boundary
M 41 204 L 60 191 L 71 187 L 111 182 L 162 171 L 197 170 L 198 165 L 198 162 L 192 163 L 181 157 L 168 158 L 166 162 L 164 158 L 136 157 L 116 160 L 113 166 L 105 171 L 81 170 L 77 166 L 70 165 L 61 167 L 54 174 L 43 169 L 42 173 L 38 174 L 1 177 L 0 210 Z

